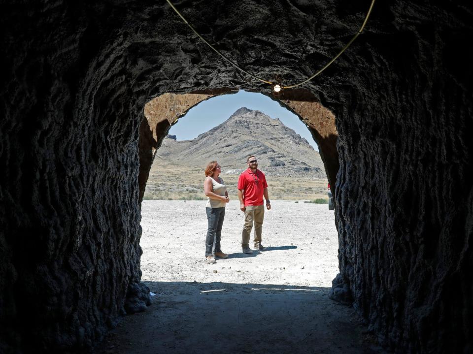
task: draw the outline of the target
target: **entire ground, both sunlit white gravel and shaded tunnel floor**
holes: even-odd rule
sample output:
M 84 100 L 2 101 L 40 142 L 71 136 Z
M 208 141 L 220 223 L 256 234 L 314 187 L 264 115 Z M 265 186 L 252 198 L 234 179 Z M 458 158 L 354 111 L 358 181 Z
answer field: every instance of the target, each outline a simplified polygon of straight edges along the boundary
M 226 208 L 222 250 L 204 261 L 205 201 L 145 200 L 142 281 L 156 294 L 97 353 L 383 353 L 350 307 L 328 298 L 338 273 L 327 204 L 272 200 L 266 251 L 241 253 L 243 213 Z

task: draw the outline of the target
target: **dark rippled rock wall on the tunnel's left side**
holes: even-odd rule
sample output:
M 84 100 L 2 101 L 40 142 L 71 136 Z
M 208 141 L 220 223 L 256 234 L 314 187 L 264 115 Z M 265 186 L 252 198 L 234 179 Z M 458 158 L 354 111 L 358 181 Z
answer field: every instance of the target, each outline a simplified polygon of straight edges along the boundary
M 1 7 L 0 352 L 90 346 L 139 282 L 145 99 L 104 16 Z

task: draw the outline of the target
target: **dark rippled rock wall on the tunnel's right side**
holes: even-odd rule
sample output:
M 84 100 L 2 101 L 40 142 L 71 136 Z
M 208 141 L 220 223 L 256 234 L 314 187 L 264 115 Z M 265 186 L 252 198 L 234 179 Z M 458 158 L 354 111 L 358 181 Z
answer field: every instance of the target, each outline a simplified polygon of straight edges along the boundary
M 473 351 L 472 12 L 445 7 L 367 35 L 336 113 L 340 272 L 400 353 Z

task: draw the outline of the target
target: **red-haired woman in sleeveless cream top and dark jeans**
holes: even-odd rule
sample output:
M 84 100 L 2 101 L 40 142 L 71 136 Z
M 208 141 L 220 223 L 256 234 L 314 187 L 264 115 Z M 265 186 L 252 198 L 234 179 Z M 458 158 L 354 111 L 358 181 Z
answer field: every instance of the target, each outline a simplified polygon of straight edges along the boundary
M 205 238 L 205 258 L 207 263 L 216 263 L 212 256 L 213 243 L 215 242 L 215 257 L 227 258 L 228 255 L 220 249 L 220 235 L 222 233 L 223 219 L 225 218 L 225 204 L 230 201 L 227 187 L 218 176 L 221 172 L 217 161 L 212 161 L 205 168 L 203 192 L 207 196 L 205 211 L 207 212 L 207 237 Z

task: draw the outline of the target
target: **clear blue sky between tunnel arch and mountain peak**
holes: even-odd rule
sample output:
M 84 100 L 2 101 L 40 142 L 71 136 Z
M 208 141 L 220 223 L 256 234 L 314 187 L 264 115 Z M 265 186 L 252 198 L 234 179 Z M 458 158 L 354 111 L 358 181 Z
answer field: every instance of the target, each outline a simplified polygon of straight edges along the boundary
M 169 130 L 169 134 L 176 135 L 177 140 L 194 139 L 199 134 L 225 122 L 241 107 L 261 111 L 271 118 L 279 118 L 286 127 L 294 129 L 318 151 L 317 144 L 309 130 L 294 113 L 281 107 L 269 97 L 245 91 L 239 91 L 234 95 L 210 98 L 199 103 L 191 108 L 184 117 L 179 118 L 177 124 Z

